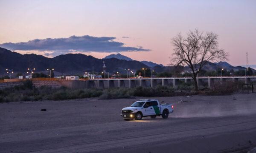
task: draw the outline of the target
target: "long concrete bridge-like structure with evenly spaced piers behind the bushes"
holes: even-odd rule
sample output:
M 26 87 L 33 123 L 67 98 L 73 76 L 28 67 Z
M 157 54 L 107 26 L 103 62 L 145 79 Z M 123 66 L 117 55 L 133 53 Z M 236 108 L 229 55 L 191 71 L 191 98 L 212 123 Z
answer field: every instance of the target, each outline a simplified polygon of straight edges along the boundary
M 214 78 L 205 77 L 198 78 L 198 86 L 208 86 L 209 88 L 215 82 L 225 81 L 244 81 L 244 83 L 251 83 L 256 81 L 256 78 Z M 167 85 L 176 88 L 181 82 L 192 83 L 191 78 L 168 78 L 168 79 L 104 79 L 104 80 L 74 80 L 74 81 L 61 81 L 61 85 L 68 88 L 134 88 L 142 87 L 155 87 L 157 85 Z

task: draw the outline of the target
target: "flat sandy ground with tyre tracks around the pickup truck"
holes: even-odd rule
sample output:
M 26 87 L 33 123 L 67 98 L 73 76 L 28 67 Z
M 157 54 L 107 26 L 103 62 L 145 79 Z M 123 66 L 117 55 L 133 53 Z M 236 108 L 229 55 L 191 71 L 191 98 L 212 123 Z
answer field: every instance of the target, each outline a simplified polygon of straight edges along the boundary
M 256 147 L 256 94 L 156 97 L 174 105 L 168 119 L 124 121 L 121 109 L 137 99 L 1 103 L 0 153 L 246 153 Z

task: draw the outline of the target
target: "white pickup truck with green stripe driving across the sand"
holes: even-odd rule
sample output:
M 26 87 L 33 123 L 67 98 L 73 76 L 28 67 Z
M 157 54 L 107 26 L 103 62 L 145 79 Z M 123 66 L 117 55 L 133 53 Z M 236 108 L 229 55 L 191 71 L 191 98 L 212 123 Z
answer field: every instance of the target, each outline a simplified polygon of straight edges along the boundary
M 125 120 L 140 120 L 143 117 L 150 116 L 152 119 L 156 116 L 162 116 L 167 119 L 169 113 L 173 112 L 172 104 L 159 104 L 155 99 L 140 99 L 134 102 L 130 107 L 122 109 L 122 118 Z

